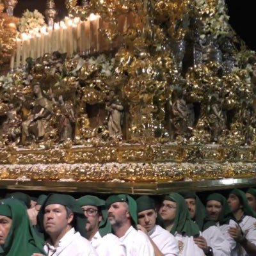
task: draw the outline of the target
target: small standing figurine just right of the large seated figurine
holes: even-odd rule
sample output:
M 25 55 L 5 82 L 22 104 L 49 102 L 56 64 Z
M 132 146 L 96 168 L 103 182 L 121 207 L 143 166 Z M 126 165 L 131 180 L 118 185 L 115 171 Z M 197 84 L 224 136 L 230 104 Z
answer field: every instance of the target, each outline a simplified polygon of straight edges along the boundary
M 52 97 L 52 100 L 60 108 L 60 116 L 57 118 L 59 142 L 72 140 L 76 123 L 73 104 L 70 100 L 64 101 L 62 95 L 59 96 L 58 102 L 54 100 L 54 97 Z

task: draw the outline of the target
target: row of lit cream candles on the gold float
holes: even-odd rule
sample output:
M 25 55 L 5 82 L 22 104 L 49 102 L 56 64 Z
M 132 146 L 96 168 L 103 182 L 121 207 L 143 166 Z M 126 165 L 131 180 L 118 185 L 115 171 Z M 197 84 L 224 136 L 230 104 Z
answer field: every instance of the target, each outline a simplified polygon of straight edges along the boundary
M 54 51 L 92 52 L 100 50 L 100 16 L 93 13 L 87 20 L 65 18 L 52 27 L 42 27 L 22 33 L 16 39 L 16 50 L 11 58 L 10 67 L 26 64 L 26 58 L 33 59 Z

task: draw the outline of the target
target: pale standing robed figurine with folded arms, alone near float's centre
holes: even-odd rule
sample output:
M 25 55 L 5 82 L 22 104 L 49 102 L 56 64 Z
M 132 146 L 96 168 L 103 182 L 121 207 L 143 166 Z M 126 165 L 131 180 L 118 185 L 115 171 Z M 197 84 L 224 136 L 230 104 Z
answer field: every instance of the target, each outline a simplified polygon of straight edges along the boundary
M 115 92 L 109 92 L 110 104 L 106 106 L 108 111 L 108 131 L 109 135 L 112 137 L 122 135 L 121 121 L 122 121 L 122 111 L 124 107 L 122 106 L 120 100 L 118 99 Z

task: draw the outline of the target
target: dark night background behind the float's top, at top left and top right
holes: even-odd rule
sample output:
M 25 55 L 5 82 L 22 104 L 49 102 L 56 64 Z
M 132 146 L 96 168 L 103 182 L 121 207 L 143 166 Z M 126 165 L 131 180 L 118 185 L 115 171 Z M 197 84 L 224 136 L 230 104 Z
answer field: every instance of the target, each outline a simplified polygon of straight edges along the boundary
M 79 0 L 81 1 L 81 0 Z M 254 0 L 226 0 L 230 24 L 237 34 L 246 42 L 250 49 L 256 51 L 256 12 L 253 8 Z M 27 8 L 38 9 L 44 13 L 47 0 L 19 0 L 14 14 L 20 16 Z M 56 8 L 63 17 L 66 14 L 65 0 L 54 0 Z

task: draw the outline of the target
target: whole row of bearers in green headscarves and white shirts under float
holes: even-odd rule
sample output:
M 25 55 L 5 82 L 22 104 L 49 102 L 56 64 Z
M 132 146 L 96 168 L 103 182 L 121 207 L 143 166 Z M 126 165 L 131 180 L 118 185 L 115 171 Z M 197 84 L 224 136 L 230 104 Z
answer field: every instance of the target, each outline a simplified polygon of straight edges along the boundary
M 0 200 L 0 255 L 255 256 L 256 189 L 201 199 L 10 193 Z

